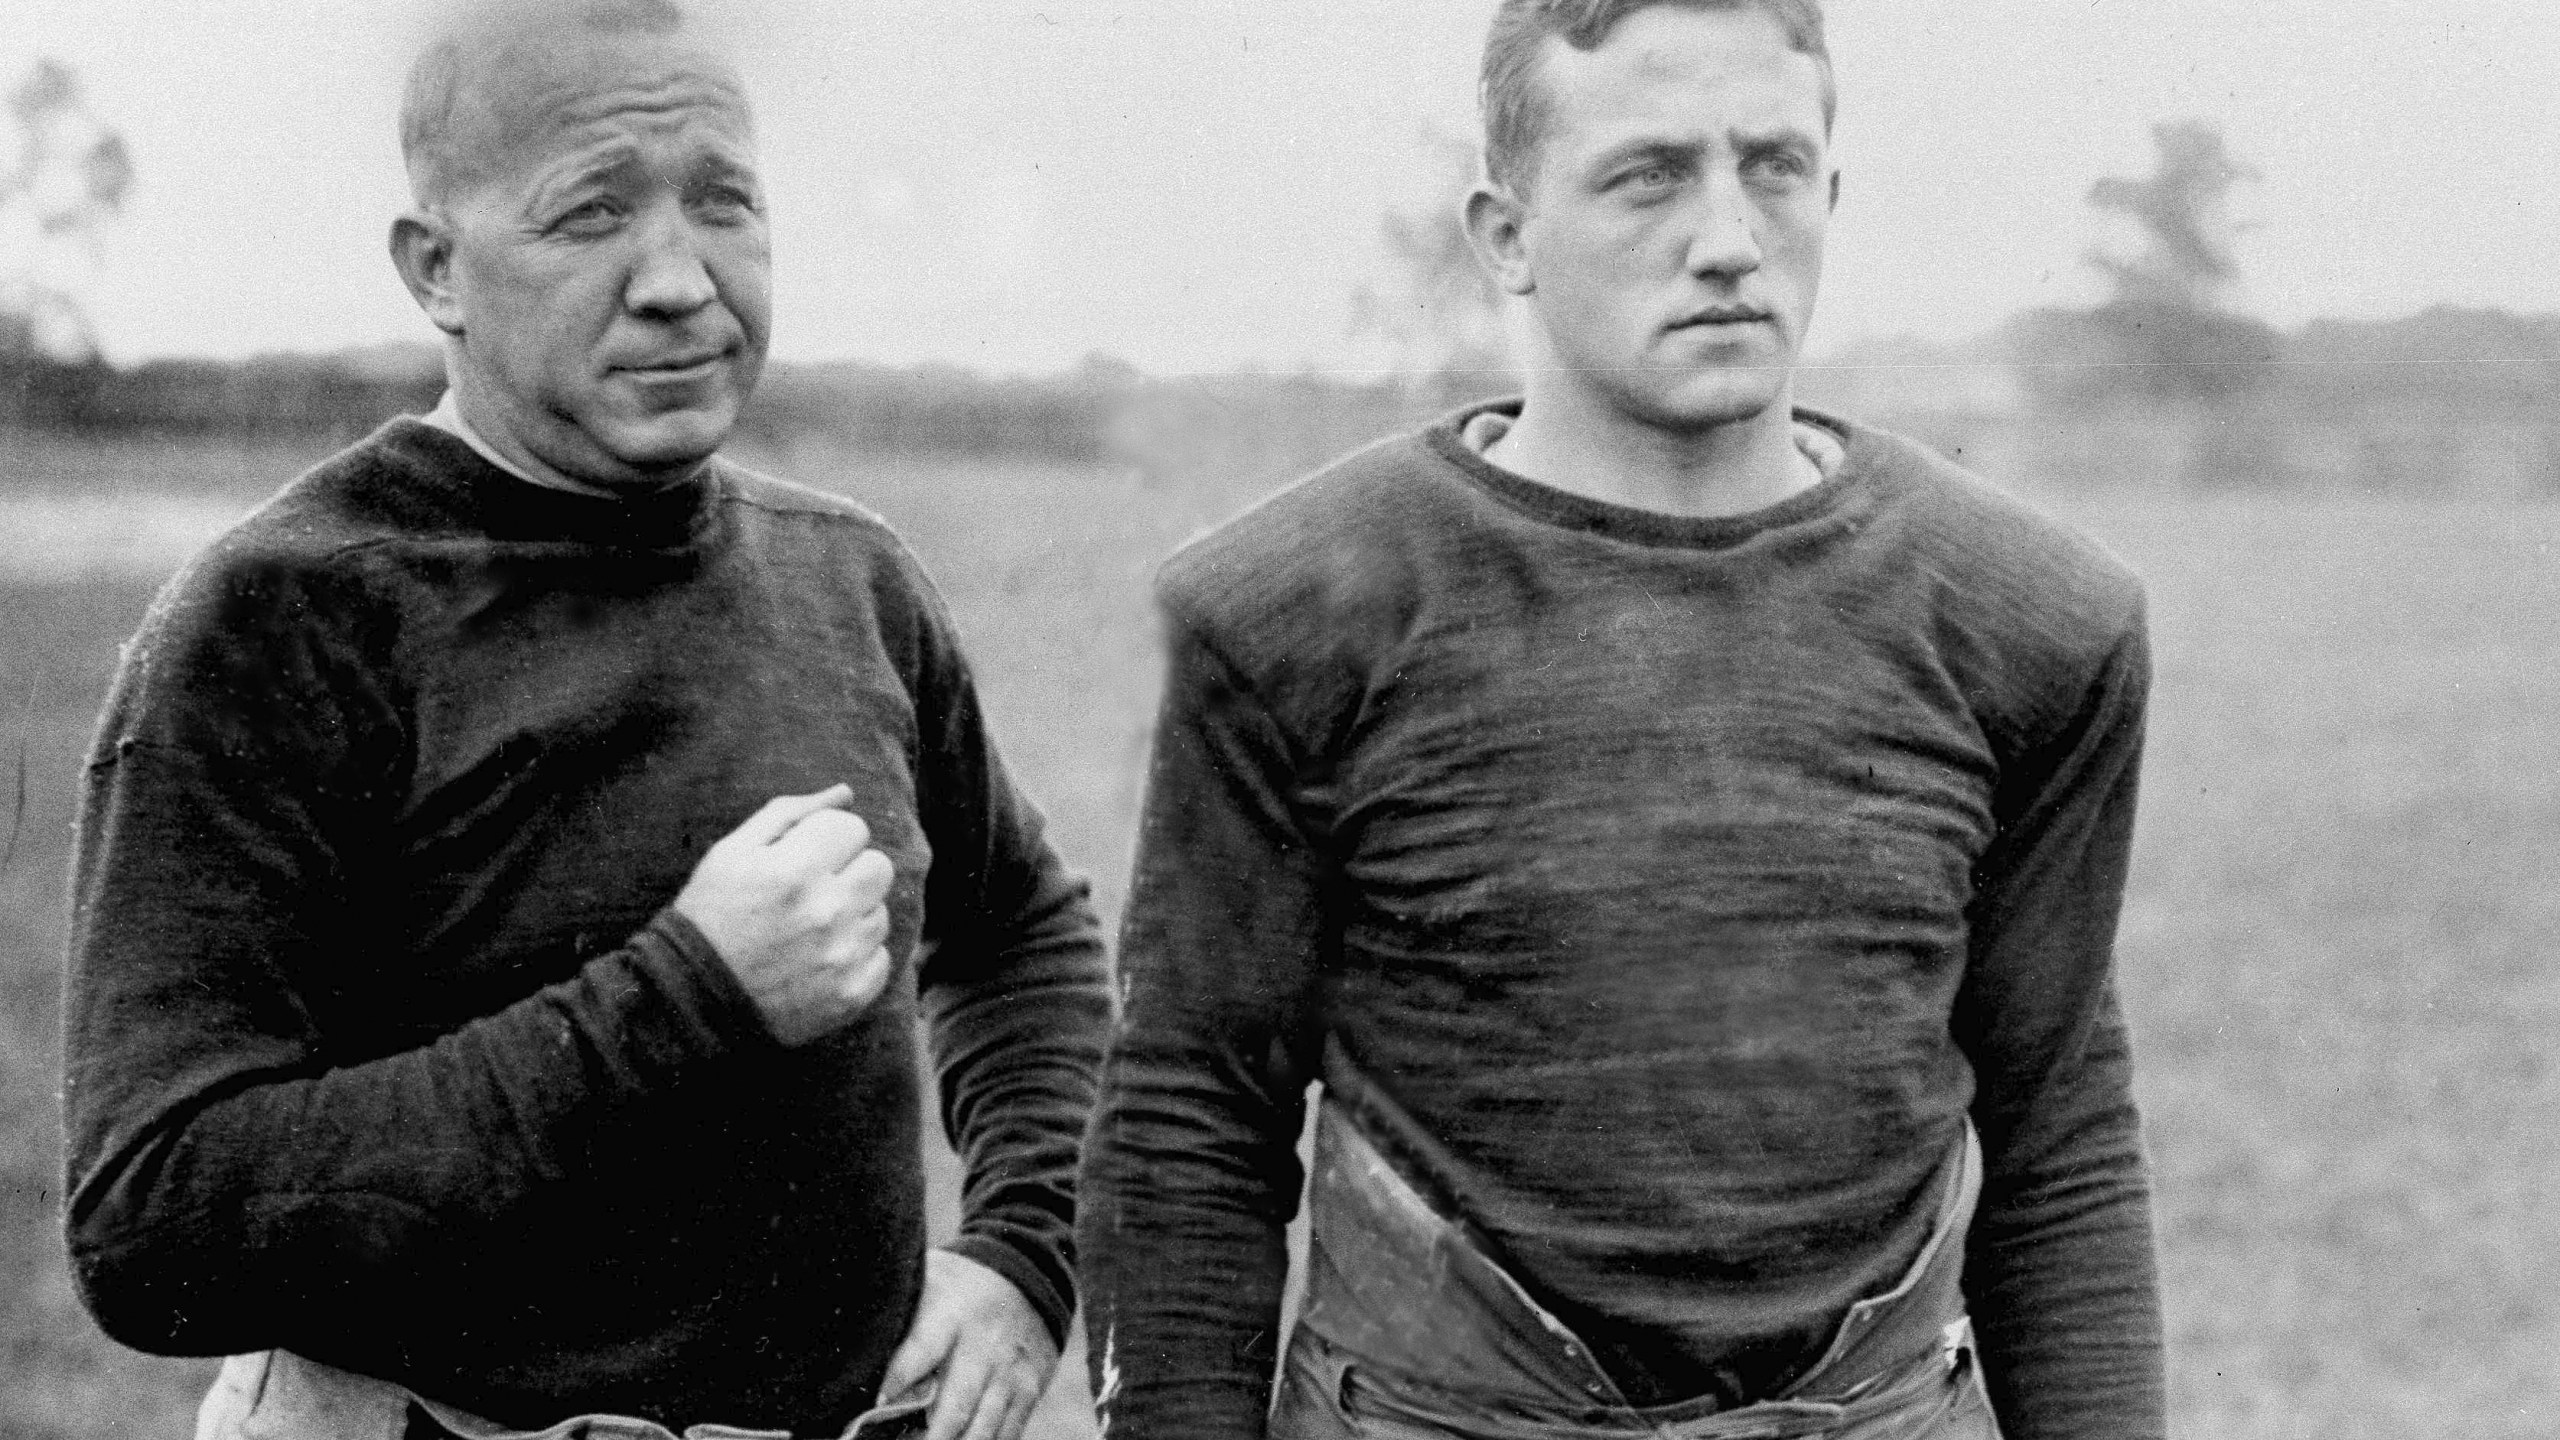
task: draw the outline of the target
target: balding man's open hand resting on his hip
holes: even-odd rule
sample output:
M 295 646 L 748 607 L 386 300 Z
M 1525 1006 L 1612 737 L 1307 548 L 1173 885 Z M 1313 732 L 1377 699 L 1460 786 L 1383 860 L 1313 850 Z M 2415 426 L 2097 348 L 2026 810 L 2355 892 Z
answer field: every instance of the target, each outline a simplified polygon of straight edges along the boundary
M 934 1384 L 924 1440 L 1019 1440 L 1055 1368 L 1050 1327 L 1014 1281 L 950 1250 L 927 1250 L 924 1299 L 888 1358 L 881 1402 Z

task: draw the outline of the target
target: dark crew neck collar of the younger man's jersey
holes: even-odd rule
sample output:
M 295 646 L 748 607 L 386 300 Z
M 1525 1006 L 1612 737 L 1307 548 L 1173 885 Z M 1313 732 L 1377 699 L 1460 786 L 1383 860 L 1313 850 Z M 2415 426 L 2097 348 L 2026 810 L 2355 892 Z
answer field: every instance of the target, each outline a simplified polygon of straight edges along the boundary
M 1533 520 L 1636 546 L 1705 551 L 1733 548 L 1769 530 L 1836 512 L 1864 487 L 1861 477 L 1866 474 L 1866 466 L 1859 461 L 1859 436 L 1846 420 L 1797 407 L 1797 428 L 1812 433 L 1812 441 L 1807 443 L 1800 438 L 1800 446 L 1807 451 L 1830 446 L 1836 451 L 1833 464 L 1823 464 L 1823 456 L 1815 456 L 1815 466 L 1823 469 L 1820 484 L 1743 515 L 1667 515 L 1661 510 L 1592 500 L 1590 495 L 1528 479 L 1526 474 L 1492 464 L 1469 443 L 1467 428 L 1477 425 L 1480 418 L 1500 418 L 1508 423 L 1518 420 L 1518 397 L 1467 405 L 1423 430 L 1423 441 L 1480 489 L 1492 492 L 1495 500 L 1526 512 Z

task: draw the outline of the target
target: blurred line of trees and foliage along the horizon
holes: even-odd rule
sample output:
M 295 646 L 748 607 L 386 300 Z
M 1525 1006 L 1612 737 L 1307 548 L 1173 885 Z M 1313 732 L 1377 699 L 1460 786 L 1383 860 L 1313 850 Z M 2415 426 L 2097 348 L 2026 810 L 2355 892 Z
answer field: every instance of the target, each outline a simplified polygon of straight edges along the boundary
M 20 159 L 0 177 L 0 213 L 15 213 L 10 233 L 44 243 L 0 256 L 0 425 L 351 441 L 435 402 L 443 364 L 428 343 L 97 359 L 79 320 L 82 264 L 95 261 L 133 164 L 61 67 L 31 72 L 10 115 L 15 143 L 0 149 Z M 1395 356 L 1380 374 L 1147 377 L 1101 354 L 1047 377 L 778 364 L 748 436 L 1155 471 L 1213 466 L 1201 443 L 1219 436 L 1213 448 L 1249 484 L 1316 464 L 1336 441 L 1505 392 L 1516 374 L 1503 297 L 1457 225 L 1475 154 L 1454 136 L 1426 143 L 1439 182 L 1382 218 L 1375 274 L 1357 290 L 1357 328 Z M 2028 310 L 1961 343 L 1846 341 L 1807 359 L 1800 397 L 2056 487 L 2560 495 L 2560 315 L 2437 307 L 2278 331 L 2230 307 L 2240 279 L 2230 200 L 2253 179 L 2248 164 L 2202 120 L 2156 126 L 2153 143 L 2148 177 L 2089 190 L 2089 205 L 2130 233 L 2086 256 L 2109 287 L 2102 302 Z M 1252 438 L 1226 438 L 1236 428 Z

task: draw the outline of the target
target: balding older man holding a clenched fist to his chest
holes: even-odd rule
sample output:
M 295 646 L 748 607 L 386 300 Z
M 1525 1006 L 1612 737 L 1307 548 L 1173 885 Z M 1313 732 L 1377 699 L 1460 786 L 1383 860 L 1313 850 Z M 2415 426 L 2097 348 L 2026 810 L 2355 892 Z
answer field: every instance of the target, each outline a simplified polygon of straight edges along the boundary
M 914 556 L 714 454 L 768 323 L 740 82 L 663 0 L 517 3 L 402 138 L 451 395 L 172 582 L 87 769 L 82 1294 L 236 1355 L 202 1435 L 1009 1440 L 1101 948 Z

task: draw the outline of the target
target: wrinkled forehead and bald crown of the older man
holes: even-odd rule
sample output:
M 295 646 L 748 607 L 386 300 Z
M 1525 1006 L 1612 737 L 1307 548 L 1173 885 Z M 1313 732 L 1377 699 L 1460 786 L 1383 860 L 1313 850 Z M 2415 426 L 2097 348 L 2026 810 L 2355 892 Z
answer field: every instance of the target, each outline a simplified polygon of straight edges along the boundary
M 753 159 L 737 69 L 689 33 L 520 20 L 456 36 L 448 56 L 440 136 L 430 141 L 445 179 L 512 174 L 653 131 L 689 131 Z

